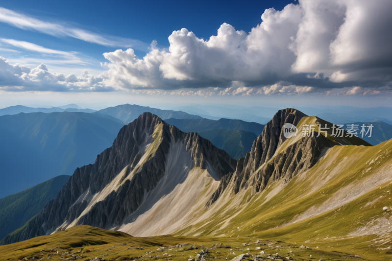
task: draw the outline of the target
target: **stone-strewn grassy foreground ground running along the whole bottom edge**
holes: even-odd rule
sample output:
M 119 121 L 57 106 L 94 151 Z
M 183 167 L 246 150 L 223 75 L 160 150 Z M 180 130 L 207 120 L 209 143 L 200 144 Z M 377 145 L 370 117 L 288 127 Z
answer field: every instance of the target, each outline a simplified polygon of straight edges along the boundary
M 207 261 L 232 260 L 242 254 L 247 254 L 243 260 L 392 260 L 389 249 L 380 248 L 382 242 L 373 236 L 296 242 L 282 238 L 132 237 L 84 225 L 0 246 L 0 260 L 201 260 L 197 254 L 206 248 L 203 257 Z

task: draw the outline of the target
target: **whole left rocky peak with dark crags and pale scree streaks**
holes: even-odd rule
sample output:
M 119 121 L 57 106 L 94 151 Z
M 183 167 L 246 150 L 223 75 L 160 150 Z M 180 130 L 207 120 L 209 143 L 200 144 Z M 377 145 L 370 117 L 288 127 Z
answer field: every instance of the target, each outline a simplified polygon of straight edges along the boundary
M 188 183 L 212 190 L 236 165 L 236 160 L 197 133 L 181 132 L 158 116 L 143 113 L 123 126 L 112 147 L 99 154 L 94 164 L 77 168 L 25 229 L 3 241 L 25 240 L 82 224 L 106 229 L 131 226 L 139 215 L 135 211 L 147 211 L 147 205 Z M 192 192 L 189 200 L 202 190 Z

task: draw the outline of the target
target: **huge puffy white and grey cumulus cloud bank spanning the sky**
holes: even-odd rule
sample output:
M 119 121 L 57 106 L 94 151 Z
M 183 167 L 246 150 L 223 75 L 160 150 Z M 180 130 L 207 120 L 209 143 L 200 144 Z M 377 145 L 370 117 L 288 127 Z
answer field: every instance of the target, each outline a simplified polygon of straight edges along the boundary
M 182 28 L 169 36 L 169 49 L 153 42 L 143 58 L 131 48 L 104 53 L 107 71 L 89 80 L 72 74 L 74 82 L 0 59 L 0 90 L 376 95 L 392 89 L 389 10 L 390 0 L 300 0 L 266 9 L 249 33 L 222 24 L 203 40 Z

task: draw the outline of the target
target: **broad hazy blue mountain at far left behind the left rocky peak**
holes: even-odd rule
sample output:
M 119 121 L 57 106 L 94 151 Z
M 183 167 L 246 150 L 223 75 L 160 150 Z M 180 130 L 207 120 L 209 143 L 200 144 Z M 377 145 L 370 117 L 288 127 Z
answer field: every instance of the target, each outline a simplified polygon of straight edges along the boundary
M 123 127 L 95 113 L 20 113 L 0 116 L 0 198 L 94 163 Z

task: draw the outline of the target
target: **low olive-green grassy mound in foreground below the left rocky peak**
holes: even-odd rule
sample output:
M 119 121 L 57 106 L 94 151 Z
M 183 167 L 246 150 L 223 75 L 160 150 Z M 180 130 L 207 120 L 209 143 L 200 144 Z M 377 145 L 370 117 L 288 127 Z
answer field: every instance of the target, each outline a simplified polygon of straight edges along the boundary
M 256 240 L 261 240 L 256 243 Z M 122 245 L 124 244 L 125 245 Z M 247 243 L 245 247 L 242 245 Z M 184 245 L 178 245 L 184 244 Z M 195 249 L 190 250 L 188 247 Z M 158 237 L 132 237 L 123 232 L 107 231 L 91 226 L 77 226 L 54 235 L 35 237 L 26 241 L 0 246 L 0 261 L 47 260 L 50 256 L 53 260 L 64 260 L 70 257 L 81 256 L 80 260 L 103 258 L 106 261 L 125 260 L 193 260 L 200 250 L 212 247 L 206 254 L 207 260 L 231 260 L 234 257 L 248 253 L 245 260 L 252 260 L 255 255 L 260 255 L 266 260 L 268 254 L 279 253 L 284 259 L 291 257 L 298 261 L 319 260 L 324 261 L 358 261 L 360 259 L 350 254 L 332 252 L 322 248 L 303 249 L 299 243 L 259 238 L 255 235 L 247 237 L 182 237 L 182 236 L 158 236 Z M 224 248 L 227 246 L 228 248 Z M 141 249 L 139 249 L 139 247 Z M 143 247 L 143 248 L 142 248 Z M 158 248 L 164 247 L 162 252 Z M 260 250 L 255 250 L 260 247 Z M 260 254 L 264 251 L 264 254 Z M 57 254 L 58 252 L 58 254 Z M 253 256 L 253 257 L 252 257 Z M 246 257 L 246 256 L 245 256 Z M 379 257 L 377 257 L 379 258 Z M 267 259 L 268 260 L 268 259 Z M 282 259 L 281 259 L 282 260 Z M 382 259 L 370 259 L 382 260 Z

